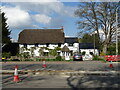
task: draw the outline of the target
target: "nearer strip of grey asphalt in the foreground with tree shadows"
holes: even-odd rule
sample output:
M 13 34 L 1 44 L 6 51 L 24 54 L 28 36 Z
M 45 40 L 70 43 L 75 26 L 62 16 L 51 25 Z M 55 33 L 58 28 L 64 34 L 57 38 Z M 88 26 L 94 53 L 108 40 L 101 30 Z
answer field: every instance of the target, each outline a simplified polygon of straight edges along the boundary
M 115 75 L 19 75 L 21 82 L 13 82 L 13 75 L 3 75 L 2 88 L 118 88 L 120 77 Z

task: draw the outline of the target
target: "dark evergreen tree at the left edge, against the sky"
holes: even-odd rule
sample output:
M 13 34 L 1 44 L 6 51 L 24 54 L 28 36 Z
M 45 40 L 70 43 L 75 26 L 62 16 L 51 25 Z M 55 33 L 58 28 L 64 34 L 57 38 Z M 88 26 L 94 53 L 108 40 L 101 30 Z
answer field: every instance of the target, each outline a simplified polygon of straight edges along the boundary
M 2 12 L 0 13 L 0 16 L 2 17 L 2 44 L 8 44 L 10 43 L 10 33 L 11 31 L 9 31 L 9 26 L 7 25 L 6 21 L 7 18 L 5 17 L 5 13 Z

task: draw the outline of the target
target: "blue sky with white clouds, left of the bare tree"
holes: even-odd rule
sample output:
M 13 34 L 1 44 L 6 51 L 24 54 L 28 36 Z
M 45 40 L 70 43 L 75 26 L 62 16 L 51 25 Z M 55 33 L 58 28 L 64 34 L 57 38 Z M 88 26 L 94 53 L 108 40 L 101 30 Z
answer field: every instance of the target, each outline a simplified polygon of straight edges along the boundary
M 74 12 L 79 2 L 2 2 L 11 38 L 18 40 L 24 29 L 59 29 L 65 36 L 77 36 L 79 30 Z

